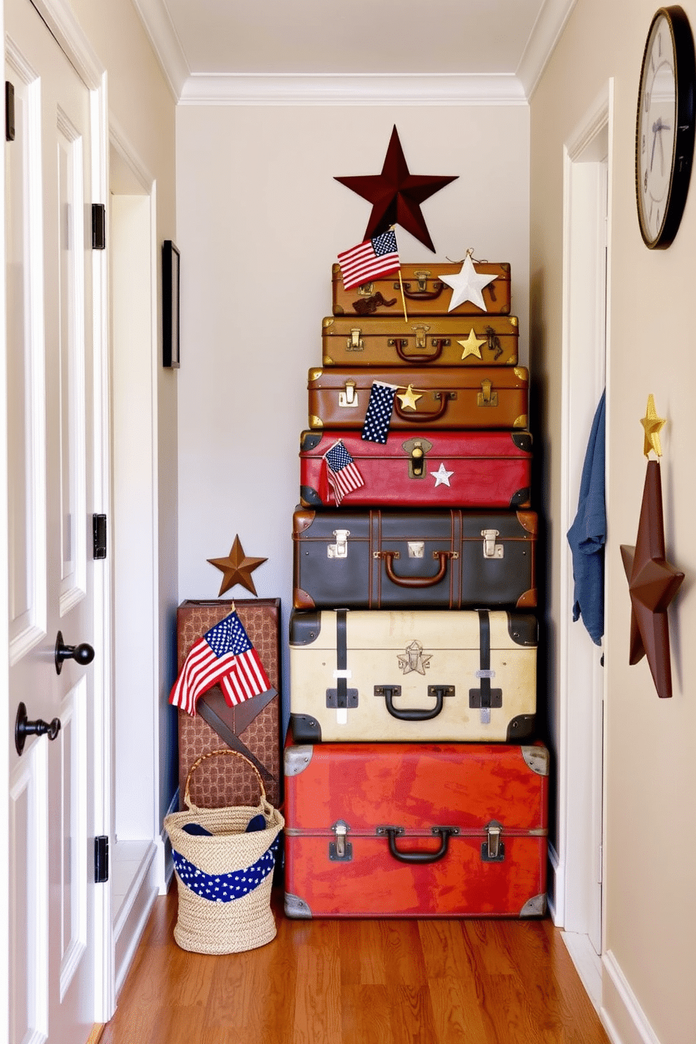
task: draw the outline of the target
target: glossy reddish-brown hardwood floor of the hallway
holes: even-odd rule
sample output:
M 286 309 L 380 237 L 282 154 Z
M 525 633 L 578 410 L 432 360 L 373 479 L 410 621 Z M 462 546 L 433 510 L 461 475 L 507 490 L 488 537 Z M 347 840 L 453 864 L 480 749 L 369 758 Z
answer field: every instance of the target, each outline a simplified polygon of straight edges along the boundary
M 290 921 L 247 953 L 173 941 L 155 901 L 100 1044 L 607 1044 L 543 921 Z

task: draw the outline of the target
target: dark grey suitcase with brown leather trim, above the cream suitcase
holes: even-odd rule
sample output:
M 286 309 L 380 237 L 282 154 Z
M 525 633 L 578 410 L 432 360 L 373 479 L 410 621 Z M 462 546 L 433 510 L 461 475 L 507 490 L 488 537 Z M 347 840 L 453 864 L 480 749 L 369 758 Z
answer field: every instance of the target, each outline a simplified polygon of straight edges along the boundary
M 535 512 L 298 508 L 295 609 L 531 609 Z

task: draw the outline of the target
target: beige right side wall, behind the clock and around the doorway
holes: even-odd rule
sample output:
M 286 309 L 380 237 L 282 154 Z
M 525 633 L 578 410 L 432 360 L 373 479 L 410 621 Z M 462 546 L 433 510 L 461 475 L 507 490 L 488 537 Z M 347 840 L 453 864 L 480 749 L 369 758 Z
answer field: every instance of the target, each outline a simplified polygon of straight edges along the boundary
M 696 26 L 696 3 L 683 7 Z M 607 378 L 608 544 L 606 619 L 606 874 L 604 1003 L 626 1042 L 647 1040 L 626 1022 L 622 975 L 661 1044 L 696 1039 L 696 888 L 693 598 L 693 466 L 696 362 L 688 333 L 696 274 L 696 185 L 667 251 L 641 239 L 633 187 L 635 106 L 643 48 L 655 5 L 649 0 L 578 0 L 531 103 L 530 364 L 544 389 L 546 509 L 559 516 L 562 150 L 614 77 L 610 185 L 611 267 Z M 630 603 L 620 544 L 634 544 L 646 461 L 643 428 L 652 393 L 663 429 L 667 556 L 687 574 L 670 610 L 672 699 L 657 698 L 647 661 L 628 665 Z M 553 533 L 548 603 L 552 633 L 559 604 Z M 557 662 L 552 664 L 553 688 Z M 631 1001 L 632 1002 L 632 1001 Z M 630 1006 L 630 1003 L 629 1005 Z M 640 1019 L 638 1020 L 640 1022 Z M 652 1039 L 652 1038 L 651 1038 Z

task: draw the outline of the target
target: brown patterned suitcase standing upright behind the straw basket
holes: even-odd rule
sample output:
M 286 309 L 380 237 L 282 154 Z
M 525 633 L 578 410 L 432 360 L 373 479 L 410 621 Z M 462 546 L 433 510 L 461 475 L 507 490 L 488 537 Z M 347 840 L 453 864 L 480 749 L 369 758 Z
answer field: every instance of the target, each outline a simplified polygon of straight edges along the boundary
M 198 697 L 195 717 L 178 711 L 179 801 L 183 803 L 186 777 L 193 762 L 201 754 L 229 746 L 258 768 L 266 797 L 278 808 L 282 800 L 280 598 L 182 602 L 176 612 L 178 669 L 194 642 L 233 609 L 273 688 L 229 707 L 219 686 L 214 686 Z M 259 785 L 251 768 L 240 758 L 210 758 L 193 774 L 191 801 L 201 808 L 256 805 Z

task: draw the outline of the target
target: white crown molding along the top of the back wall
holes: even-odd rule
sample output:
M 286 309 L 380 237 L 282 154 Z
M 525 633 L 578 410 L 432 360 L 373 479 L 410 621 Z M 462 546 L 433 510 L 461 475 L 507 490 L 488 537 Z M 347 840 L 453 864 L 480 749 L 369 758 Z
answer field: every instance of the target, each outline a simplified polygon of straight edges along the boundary
M 524 105 L 517 76 L 189 76 L 183 105 Z

